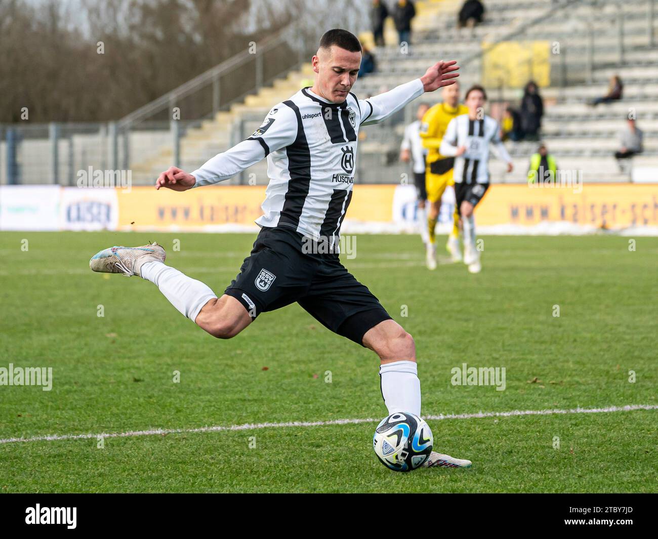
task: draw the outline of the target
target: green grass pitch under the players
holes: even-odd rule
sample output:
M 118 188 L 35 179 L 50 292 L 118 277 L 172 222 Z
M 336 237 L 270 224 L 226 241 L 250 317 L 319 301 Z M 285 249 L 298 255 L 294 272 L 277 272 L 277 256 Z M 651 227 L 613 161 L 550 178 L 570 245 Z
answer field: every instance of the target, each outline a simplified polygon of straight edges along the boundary
M 387 415 L 376 355 L 297 305 L 215 340 L 153 284 L 88 269 L 99 249 L 157 240 L 170 265 L 220 294 L 254 236 L 3 232 L 0 367 L 53 367 L 53 388 L 0 386 L 0 438 Z M 424 414 L 656 405 L 658 238 L 635 239 L 632 251 L 620 236 L 484 237 L 471 275 L 426 270 L 416 236 L 359 235 L 343 263 L 414 336 Z M 506 389 L 451 385 L 462 363 L 505 367 Z M 657 492 L 657 420 L 657 410 L 430 420 L 435 449 L 474 465 L 409 474 L 376 460 L 374 423 L 104 448 L 3 443 L 0 492 Z

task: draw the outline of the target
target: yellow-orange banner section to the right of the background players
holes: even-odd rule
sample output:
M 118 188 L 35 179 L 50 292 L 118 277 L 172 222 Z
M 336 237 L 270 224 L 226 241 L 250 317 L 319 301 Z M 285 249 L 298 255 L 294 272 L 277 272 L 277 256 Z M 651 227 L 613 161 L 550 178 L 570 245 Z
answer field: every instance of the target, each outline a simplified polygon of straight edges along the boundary
M 478 226 L 567 221 L 624 228 L 658 225 L 658 184 L 580 184 L 578 189 L 493 185 L 475 211 Z

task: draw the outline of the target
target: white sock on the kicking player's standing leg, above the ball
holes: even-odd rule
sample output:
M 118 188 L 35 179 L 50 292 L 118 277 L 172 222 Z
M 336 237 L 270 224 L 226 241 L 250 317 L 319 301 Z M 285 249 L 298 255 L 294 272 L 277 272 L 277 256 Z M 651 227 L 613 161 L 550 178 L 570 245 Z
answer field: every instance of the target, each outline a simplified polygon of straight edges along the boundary
M 415 361 L 394 361 L 379 367 L 382 396 L 388 413 L 409 412 L 420 415 L 420 380 Z

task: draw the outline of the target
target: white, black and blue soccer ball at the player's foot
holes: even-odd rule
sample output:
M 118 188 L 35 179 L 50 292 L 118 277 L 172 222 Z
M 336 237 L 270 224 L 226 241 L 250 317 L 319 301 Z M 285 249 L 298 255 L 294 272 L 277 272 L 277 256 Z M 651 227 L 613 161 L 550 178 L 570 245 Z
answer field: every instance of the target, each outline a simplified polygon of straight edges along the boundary
M 384 417 L 372 438 L 374 453 L 384 466 L 396 472 L 411 472 L 432 453 L 432 430 L 417 415 L 395 412 Z

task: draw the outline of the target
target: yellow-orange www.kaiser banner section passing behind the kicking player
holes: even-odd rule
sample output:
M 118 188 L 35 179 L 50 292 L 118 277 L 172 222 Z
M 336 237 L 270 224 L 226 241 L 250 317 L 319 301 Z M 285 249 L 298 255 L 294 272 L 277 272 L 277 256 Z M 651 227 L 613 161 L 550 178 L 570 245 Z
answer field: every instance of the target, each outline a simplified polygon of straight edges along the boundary
M 356 186 L 351 219 L 391 222 L 395 186 Z M 153 187 L 117 190 L 119 230 L 201 230 L 254 226 L 263 215 L 265 186 L 207 186 L 186 192 Z

